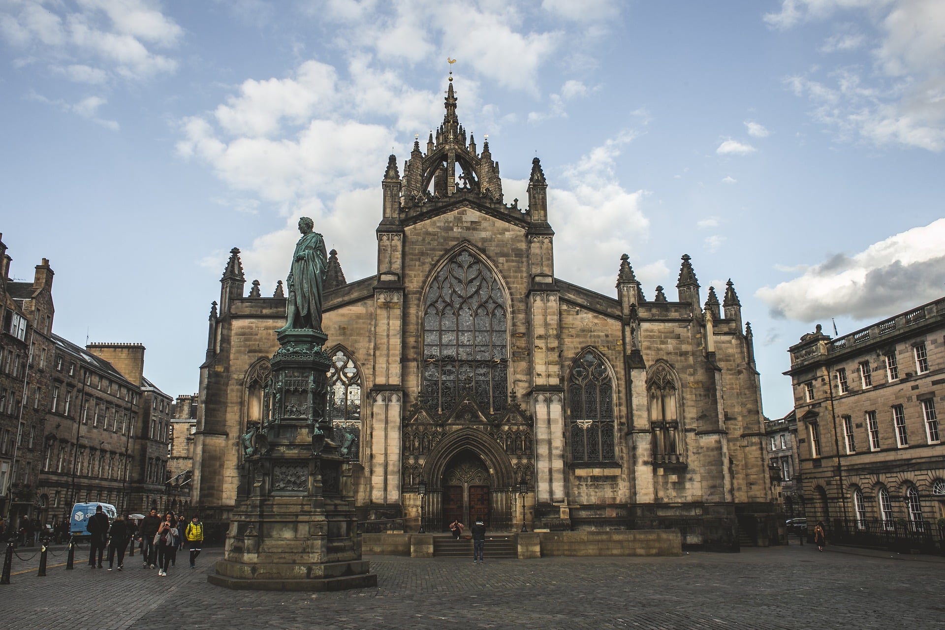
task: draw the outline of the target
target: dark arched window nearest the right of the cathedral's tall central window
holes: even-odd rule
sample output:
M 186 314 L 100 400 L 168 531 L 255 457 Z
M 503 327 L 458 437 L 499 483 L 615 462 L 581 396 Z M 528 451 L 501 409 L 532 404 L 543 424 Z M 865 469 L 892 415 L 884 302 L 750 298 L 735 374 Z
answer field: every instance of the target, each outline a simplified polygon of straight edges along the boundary
M 592 350 L 581 354 L 571 367 L 568 420 L 573 462 L 615 460 L 613 384 L 604 360 Z

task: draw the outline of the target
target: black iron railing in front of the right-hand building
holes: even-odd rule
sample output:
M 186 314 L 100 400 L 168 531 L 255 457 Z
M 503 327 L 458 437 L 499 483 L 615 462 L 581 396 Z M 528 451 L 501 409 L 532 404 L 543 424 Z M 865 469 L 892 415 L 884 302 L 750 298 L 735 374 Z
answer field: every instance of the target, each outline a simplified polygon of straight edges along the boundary
M 936 522 L 927 520 L 833 519 L 827 523 L 827 543 L 831 542 L 899 553 L 945 555 L 945 532 Z

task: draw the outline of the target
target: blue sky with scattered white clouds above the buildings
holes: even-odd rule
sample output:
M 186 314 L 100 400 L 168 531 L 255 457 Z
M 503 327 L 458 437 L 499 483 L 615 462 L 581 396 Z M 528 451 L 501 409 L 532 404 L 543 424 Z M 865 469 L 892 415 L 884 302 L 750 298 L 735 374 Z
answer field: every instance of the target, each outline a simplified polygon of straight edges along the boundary
M 54 331 L 198 388 L 231 247 L 271 295 L 298 216 L 375 271 L 387 155 L 442 119 L 507 200 L 549 183 L 556 275 L 615 296 L 731 278 L 765 415 L 786 349 L 945 295 L 945 2 L 0 0 L 0 231 Z

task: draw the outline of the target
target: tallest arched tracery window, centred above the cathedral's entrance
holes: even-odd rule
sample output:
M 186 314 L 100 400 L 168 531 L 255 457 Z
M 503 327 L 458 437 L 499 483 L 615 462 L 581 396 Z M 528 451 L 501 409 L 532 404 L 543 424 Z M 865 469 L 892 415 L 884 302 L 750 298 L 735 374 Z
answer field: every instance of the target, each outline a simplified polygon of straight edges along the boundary
M 439 413 L 472 396 L 488 413 L 508 404 L 506 297 L 466 250 L 437 273 L 423 299 L 423 402 Z

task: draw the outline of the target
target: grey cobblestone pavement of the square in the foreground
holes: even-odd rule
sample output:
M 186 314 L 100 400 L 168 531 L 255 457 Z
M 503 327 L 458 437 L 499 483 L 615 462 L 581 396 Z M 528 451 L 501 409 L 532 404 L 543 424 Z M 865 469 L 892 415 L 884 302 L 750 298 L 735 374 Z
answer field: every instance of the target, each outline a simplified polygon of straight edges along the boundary
M 57 550 L 58 552 L 59 550 Z M 26 558 L 29 550 L 21 555 Z M 87 553 L 87 552 L 86 552 Z M 671 558 L 428 560 L 366 556 L 378 587 L 337 593 L 231 591 L 198 569 L 126 559 L 123 572 L 14 559 L 0 628 L 941 628 L 945 562 L 814 545 Z M 81 559 L 80 559 L 81 558 Z M 24 572 L 27 569 L 28 572 Z

